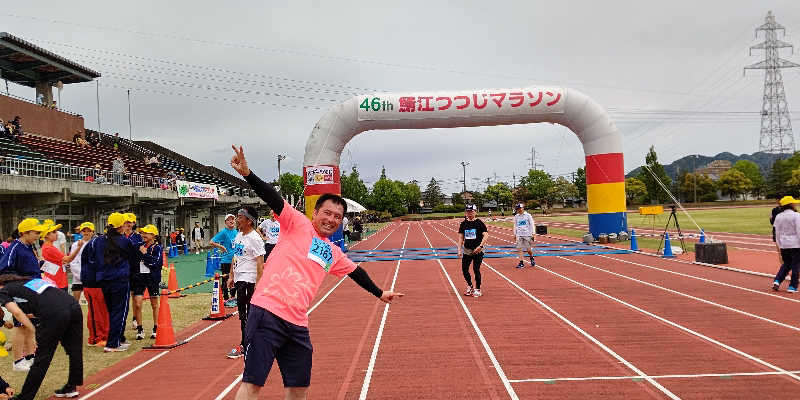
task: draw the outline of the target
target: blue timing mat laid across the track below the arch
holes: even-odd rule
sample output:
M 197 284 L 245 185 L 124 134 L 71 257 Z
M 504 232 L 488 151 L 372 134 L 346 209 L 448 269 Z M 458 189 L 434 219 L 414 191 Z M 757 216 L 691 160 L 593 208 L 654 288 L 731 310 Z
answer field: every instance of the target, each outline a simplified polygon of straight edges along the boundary
M 507 258 L 517 257 L 515 246 L 486 246 L 484 248 L 484 258 Z M 582 243 L 564 244 L 538 244 L 533 246 L 535 257 L 573 257 L 588 256 L 597 254 L 627 254 L 630 250 L 612 250 L 603 247 L 590 246 Z M 435 260 L 458 258 L 458 248 L 456 247 L 414 247 L 401 249 L 381 249 L 381 250 L 350 250 L 347 256 L 354 262 L 369 261 L 397 261 L 397 260 Z

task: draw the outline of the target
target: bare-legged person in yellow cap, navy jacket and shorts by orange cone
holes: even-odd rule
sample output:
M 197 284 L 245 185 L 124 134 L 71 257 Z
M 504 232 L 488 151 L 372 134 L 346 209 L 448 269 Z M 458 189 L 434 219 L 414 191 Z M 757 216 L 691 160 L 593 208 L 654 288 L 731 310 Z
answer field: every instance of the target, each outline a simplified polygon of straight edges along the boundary
M 161 267 L 164 266 L 164 248 L 161 247 L 161 238 L 158 236 L 158 228 L 154 225 L 145 225 L 139 229 L 144 243 L 139 248 L 140 261 L 136 273 L 132 276 L 133 286 L 134 317 L 137 321 L 142 321 L 142 303 L 144 302 L 144 290 L 150 294 L 150 306 L 153 308 L 153 333 L 150 339 L 156 338 L 158 328 L 158 294 L 161 283 Z M 136 340 L 144 339 L 144 327 L 140 323 L 136 327 Z

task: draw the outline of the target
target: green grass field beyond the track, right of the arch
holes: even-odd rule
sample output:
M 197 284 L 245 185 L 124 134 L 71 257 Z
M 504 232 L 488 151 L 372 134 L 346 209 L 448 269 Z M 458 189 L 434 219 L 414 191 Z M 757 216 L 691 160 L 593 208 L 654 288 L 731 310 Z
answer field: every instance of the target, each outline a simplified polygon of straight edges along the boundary
M 723 208 L 709 210 L 689 210 L 689 214 L 706 231 L 709 232 L 737 232 L 755 233 L 769 235 L 772 233 L 772 226 L 769 224 L 770 211 L 772 206 L 752 207 L 752 208 Z M 678 222 L 684 230 L 697 230 L 681 210 L 677 211 Z M 655 217 L 655 222 L 650 216 L 641 216 L 636 213 L 628 213 L 629 228 L 653 228 L 663 230 L 664 224 L 669 217 L 669 209 L 661 215 Z M 537 216 L 536 222 L 558 221 L 576 222 L 586 224 L 588 218 L 585 215 L 556 215 L 556 216 Z

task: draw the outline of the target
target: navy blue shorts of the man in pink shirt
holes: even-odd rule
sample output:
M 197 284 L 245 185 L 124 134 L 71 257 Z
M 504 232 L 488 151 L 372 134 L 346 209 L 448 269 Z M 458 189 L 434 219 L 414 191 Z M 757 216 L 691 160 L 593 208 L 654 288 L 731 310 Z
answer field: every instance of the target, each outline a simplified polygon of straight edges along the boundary
M 278 360 L 284 387 L 311 385 L 313 348 L 307 327 L 251 304 L 245 331 L 242 382 L 264 386 L 273 361 Z

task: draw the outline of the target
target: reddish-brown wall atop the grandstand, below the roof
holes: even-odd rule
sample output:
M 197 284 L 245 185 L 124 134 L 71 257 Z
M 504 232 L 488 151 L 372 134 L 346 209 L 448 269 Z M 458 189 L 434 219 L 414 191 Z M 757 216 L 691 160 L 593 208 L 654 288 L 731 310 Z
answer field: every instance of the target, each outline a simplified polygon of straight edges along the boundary
M 19 115 L 22 130 L 42 136 L 72 140 L 75 132 L 83 132 L 83 117 L 52 110 L 24 100 L 0 95 L 0 119 L 7 121 Z

